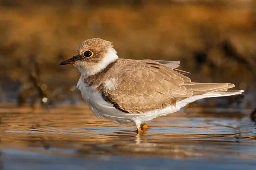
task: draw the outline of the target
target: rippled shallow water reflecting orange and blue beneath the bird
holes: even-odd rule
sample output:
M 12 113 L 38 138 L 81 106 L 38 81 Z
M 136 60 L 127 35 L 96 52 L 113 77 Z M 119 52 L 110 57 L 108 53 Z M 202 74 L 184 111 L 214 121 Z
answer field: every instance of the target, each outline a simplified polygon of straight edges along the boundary
M 154 119 L 138 136 L 134 126 L 97 119 L 86 105 L 0 104 L 0 170 L 256 168 L 249 111 L 185 112 Z

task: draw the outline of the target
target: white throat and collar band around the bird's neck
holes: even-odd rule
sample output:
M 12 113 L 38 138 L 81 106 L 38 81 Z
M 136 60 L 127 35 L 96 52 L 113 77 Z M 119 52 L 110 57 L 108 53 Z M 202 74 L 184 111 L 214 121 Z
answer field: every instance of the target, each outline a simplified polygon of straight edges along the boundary
M 82 76 L 85 76 L 85 75 L 90 76 L 90 75 L 99 73 L 116 59 L 118 59 L 116 50 L 114 48 L 109 48 L 108 53 L 105 55 L 102 61 L 94 65 L 93 68 L 91 68 L 90 70 L 87 70 L 84 64 L 82 63 L 75 66 L 79 69 Z

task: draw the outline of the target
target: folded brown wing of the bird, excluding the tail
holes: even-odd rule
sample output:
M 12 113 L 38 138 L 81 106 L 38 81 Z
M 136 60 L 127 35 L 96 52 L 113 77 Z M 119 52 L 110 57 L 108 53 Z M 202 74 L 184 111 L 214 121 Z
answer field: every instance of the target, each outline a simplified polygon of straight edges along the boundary
M 152 60 L 119 59 L 111 76 L 116 88 L 103 88 L 104 98 L 130 113 L 165 108 L 193 95 L 186 90 L 194 84 L 188 77 Z

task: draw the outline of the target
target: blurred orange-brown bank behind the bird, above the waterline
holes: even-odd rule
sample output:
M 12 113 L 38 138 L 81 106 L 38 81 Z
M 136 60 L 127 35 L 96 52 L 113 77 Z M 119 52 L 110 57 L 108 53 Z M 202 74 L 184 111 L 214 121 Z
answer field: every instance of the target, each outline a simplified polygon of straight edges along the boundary
M 80 42 L 113 42 L 120 58 L 181 61 L 198 82 L 256 93 L 256 0 L 0 0 L 0 100 L 76 103 L 80 73 L 59 66 Z M 230 99 L 230 98 L 228 98 Z

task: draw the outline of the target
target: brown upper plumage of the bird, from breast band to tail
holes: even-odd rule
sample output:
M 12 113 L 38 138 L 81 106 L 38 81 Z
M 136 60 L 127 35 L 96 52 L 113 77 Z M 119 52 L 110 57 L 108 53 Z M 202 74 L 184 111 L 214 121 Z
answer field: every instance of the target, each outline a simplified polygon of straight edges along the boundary
M 176 106 L 178 101 L 191 96 L 203 96 L 198 99 L 207 97 L 207 94 L 218 96 L 219 91 L 227 93 L 228 88 L 234 87 L 229 83 L 191 82 L 184 71 L 164 64 L 153 60 L 118 59 L 100 74 L 85 79 L 88 85 L 95 86 L 98 92 L 102 91 L 105 101 L 128 113 L 145 113 Z

